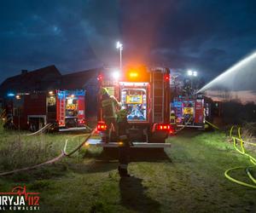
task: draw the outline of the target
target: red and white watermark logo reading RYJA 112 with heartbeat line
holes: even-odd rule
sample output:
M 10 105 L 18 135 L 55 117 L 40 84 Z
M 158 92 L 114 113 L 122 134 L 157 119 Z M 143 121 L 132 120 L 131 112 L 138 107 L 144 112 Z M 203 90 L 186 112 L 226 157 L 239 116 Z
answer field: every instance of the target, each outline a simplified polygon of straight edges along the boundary
M 26 186 L 15 187 L 10 193 L 0 193 L 0 211 L 40 210 L 39 194 L 26 192 Z

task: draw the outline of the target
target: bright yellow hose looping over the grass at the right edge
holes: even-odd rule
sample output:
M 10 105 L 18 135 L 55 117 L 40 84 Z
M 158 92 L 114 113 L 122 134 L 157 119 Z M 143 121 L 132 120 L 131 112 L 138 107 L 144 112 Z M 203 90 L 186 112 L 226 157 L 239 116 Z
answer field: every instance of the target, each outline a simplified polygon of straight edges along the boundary
M 251 171 L 250 171 L 250 168 L 255 168 L 255 166 L 256 166 L 256 158 L 253 158 L 252 155 L 248 154 L 247 151 L 246 151 L 246 149 L 245 149 L 245 147 L 244 147 L 244 144 L 248 144 L 248 145 L 251 145 L 251 146 L 256 146 L 256 143 L 251 143 L 251 142 L 243 141 L 243 140 L 241 139 L 241 128 L 240 128 L 240 127 L 239 127 L 238 130 L 237 130 L 237 135 L 238 135 L 238 137 L 232 135 L 233 130 L 234 130 L 234 126 L 232 126 L 231 129 L 230 129 L 230 137 L 231 137 L 232 140 L 233 140 L 233 145 L 234 145 L 236 151 L 237 151 L 238 153 L 241 153 L 242 155 L 247 156 L 247 158 L 250 159 L 250 161 L 251 161 L 251 163 L 252 163 L 253 165 L 252 165 L 252 166 L 248 166 L 248 167 L 241 167 L 241 166 L 239 166 L 239 167 L 230 168 L 229 170 L 226 170 L 226 171 L 224 172 L 224 176 L 225 176 L 226 178 L 228 178 L 230 181 L 236 182 L 237 184 L 240 184 L 240 185 L 242 185 L 242 186 L 256 188 L 256 179 L 253 177 L 253 175 L 252 175 L 252 173 L 251 173 Z M 237 144 L 238 144 L 238 143 L 240 143 L 241 149 L 239 149 L 239 148 L 237 147 Z M 230 173 L 231 170 L 241 170 L 241 169 L 245 169 L 245 170 L 246 170 L 247 176 L 249 177 L 249 179 L 250 179 L 251 181 L 253 181 L 254 184 L 249 184 L 249 183 L 244 182 L 244 181 L 236 180 L 234 177 L 231 177 L 231 176 L 229 175 L 229 173 Z

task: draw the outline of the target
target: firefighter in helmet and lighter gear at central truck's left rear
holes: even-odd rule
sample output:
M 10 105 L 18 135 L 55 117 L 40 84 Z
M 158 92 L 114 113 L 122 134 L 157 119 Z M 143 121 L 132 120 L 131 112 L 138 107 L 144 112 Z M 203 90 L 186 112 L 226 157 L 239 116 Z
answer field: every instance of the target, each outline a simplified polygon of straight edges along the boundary
M 102 111 L 103 119 L 107 124 L 107 142 L 113 140 L 117 136 L 117 112 L 120 104 L 113 95 L 109 95 L 108 89 L 102 88 L 100 90 L 102 95 Z

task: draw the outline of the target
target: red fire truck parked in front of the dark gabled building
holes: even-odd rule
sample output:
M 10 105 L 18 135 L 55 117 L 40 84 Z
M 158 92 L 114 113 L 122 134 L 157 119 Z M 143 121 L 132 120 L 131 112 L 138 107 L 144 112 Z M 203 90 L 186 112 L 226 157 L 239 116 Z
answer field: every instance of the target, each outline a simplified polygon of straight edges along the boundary
M 17 129 L 34 132 L 52 124 L 51 130 L 85 130 L 84 97 L 84 90 L 9 93 L 3 105 Z

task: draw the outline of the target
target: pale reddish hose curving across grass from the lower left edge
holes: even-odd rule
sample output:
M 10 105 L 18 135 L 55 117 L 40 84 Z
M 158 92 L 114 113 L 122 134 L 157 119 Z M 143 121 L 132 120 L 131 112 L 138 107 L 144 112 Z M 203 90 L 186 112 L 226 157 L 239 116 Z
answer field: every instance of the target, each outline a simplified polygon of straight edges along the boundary
M 34 169 L 38 169 L 38 168 L 41 167 L 41 166 L 44 166 L 44 165 L 47 165 L 47 164 L 53 164 L 53 163 L 59 161 L 61 158 L 70 157 L 71 155 L 73 155 L 73 153 L 76 153 L 77 151 L 79 151 L 79 149 L 84 146 L 84 144 L 90 139 L 90 137 L 91 137 L 92 135 L 94 135 L 95 132 L 96 132 L 96 128 L 95 128 L 94 130 L 92 130 L 92 131 L 90 132 L 90 135 L 88 135 L 88 136 L 86 137 L 86 139 L 85 139 L 78 147 L 76 147 L 76 148 L 75 148 L 72 152 L 70 152 L 70 153 L 67 153 L 67 152 L 66 152 L 66 149 L 67 149 L 67 141 L 68 141 L 68 140 L 66 140 L 65 146 L 64 146 L 63 150 L 61 150 L 61 154 L 60 154 L 59 156 L 57 156 L 57 157 L 55 157 L 55 158 L 52 158 L 52 159 L 50 159 L 50 160 L 48 160 L 48 161 L 46 161 L 46 162 L 44 162 L 44 163 L 41 163 L 41 164 L 37 164 L 37 165 L 33 165 L 33 166 L 28 166 L 28 167 L 21 168 L 21 169 L 18 169 L 18 170 L 11 170 L 11 171 L 2 172 L 2 173 L 0 173 L 0 176 L 7 176 L 7 175 L 11 175 L 11 174 L 20 172 L 20 171 L 25 171 L 25 170 L 34 170 Z M 75 137 L 78 137 L 78 136 L 81 136 L 81 135 L 74 135 L 74 136 L 72 137 L 72 139 L 75 138 Z

